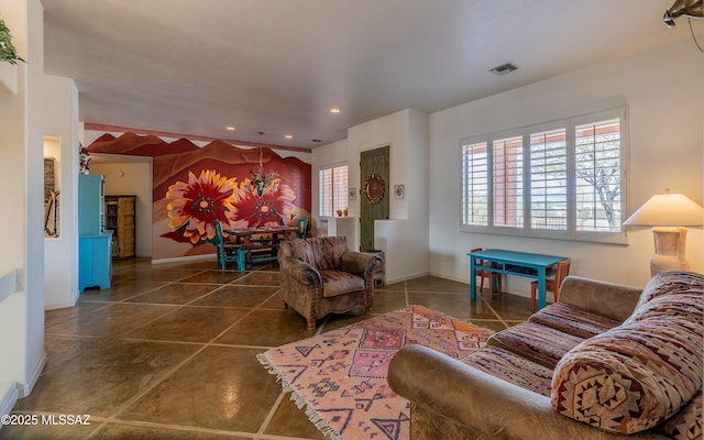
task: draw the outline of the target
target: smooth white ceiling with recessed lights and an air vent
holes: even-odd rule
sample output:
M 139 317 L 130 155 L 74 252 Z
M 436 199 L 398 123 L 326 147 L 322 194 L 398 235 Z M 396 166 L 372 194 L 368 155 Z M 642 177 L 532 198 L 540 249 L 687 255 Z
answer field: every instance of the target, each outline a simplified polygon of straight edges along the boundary
M 86 123 L 250 142 L 263 131 L 265 143 L 315 147 L 398 110 L 691 38 L 685 18 L 663 25 L 672 3 L 43 0 L 45 70 L 76 80 Z M 488 72 L 507 62 L 519 69 Z

